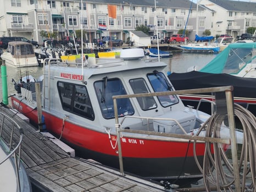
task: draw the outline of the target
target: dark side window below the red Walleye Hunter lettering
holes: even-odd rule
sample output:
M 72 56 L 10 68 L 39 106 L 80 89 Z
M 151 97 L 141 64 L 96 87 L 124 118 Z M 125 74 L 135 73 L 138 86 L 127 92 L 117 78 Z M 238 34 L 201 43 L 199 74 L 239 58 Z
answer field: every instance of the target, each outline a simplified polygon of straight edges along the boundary
M 91 100 L 85 86 L 58 82 L 57 87 L 63 110 L 94 120 Z

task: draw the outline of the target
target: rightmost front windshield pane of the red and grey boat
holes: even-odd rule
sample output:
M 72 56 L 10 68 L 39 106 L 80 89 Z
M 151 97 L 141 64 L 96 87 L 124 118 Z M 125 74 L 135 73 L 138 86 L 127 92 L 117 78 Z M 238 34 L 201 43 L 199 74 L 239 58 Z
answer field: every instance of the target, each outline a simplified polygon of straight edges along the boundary
M 154 92 L 173 91 L 171 84 L 168 82 L 162 72 L 153 71 L 152 74 L 147 74 L 148 80 L 154 89 Z M 176 95 L 163 95 L 157 97 L 163 107 L 179 103 Z

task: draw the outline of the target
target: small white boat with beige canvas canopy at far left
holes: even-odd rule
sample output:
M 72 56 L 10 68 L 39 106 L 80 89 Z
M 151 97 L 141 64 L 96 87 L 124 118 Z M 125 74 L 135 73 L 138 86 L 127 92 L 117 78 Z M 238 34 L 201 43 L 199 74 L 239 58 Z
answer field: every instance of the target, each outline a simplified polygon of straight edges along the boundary
M 31 43 L 12 41 L 8 48 L 1 54 L 5 64 L 14 67 L 38 66 L 34 47 Z

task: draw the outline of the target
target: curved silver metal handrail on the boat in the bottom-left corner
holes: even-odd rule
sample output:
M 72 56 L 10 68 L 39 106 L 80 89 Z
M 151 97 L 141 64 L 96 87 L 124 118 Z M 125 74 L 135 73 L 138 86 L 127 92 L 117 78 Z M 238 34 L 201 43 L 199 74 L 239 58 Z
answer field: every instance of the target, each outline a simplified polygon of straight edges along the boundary
M 3 132 L 3 127 L 4 127 L 4 121 L 9 121 L 12 122 L 12 132 L 10 135 L 10 142 L 9 142 L 9 154 L 0 161 L 0 165 L 2 163 L 4 163 L 5 161 L 7 161 L 8 159 L 10 159 L 12 156 L 14 156 L 14 164 L 15 164 L 15 173 L 16 173 L 16 180 L 17 180 L 17 184 L 18 184 L 18 191 L 21 191 L 21 186 L 20 186 L 20 176 L 19 176 L 19 168 L 20 168 L 20 154 L 21 154 L 21 142 L 23 140 L 23 128 L 21 128 L 18 123 L 16 123 L 12 118 L 10 118 L 9 116 L 3 114 L 2 112 L 0 112 L 0 114 L 3 116 L 2 118 L 2 126 L 1 126 L 1 131 L 0 131 L 0 139 L 2 139 L 2 132 Z M 12 150 L 12 143 L 13 142 L 13 134 L 14 134 L 14 129 L 17 128 L 19 129 L 19 143 L 15 146 L 15 148 Z M 4 142 L 4 140 L 3 140 Z M 4 142 L 5 144 L 7 144 L 6 142 Z M 8 145 L 8 144 L 7 144 Z

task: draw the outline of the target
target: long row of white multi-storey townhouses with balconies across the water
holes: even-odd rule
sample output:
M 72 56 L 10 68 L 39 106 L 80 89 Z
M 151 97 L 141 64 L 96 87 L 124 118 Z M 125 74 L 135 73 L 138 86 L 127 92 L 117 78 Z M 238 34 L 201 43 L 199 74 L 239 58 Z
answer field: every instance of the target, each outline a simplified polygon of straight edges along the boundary
M 56 39 L 76 30 L 86 31 L 86 40 L 103 36 L 126 39 L 137 26 L 148 26 L 149 35 L 171 36 L 186 29 L 188 37 L 230 33 L 241 35 L 255 26 L 256 3 L 228 0 L 0 0 L 0 36 L 23 36 L 42 44 L 44 32 Z M 108 5 L 115 5 L 110 16 Z M 233 6 L 231 6 L 233 5 Z M 242 6 L 242 8 L 241 8 Z M 254 10 L 253 10 L 254 7 Z M 236 8 L 236 9 L 235 9 Z M 240 9 L 238 9 L 240 8 Z

